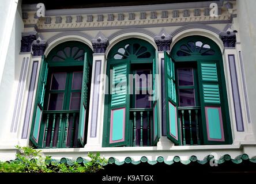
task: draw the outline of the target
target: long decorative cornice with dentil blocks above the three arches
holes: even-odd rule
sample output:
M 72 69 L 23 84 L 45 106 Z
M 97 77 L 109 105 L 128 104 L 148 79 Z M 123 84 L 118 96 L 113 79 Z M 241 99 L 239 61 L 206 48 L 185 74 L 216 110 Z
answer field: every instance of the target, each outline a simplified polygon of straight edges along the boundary
M 227 9 L 234 3 L 221 6 L 219 16 L 210 17 L 209 8 L 203 5 L 193 7 L 187 6 L 190 3 L 184 3 L 184 9 L 173 9 L 166 6 L 163 9 L 153 9 L 152 6 L 145 6 L 148 9 L 141 11 L 94 11 L 90 14 L 84 14 L 80 10 L 74 11 L 74 14 L 47 14 L 47 17 L 35 18 L 35 12 L 29 11 L 28 19 L 24 19 L 25 27 L 35 24 L 38 32 L 58 31 L 58 30 L 97 30 L 97 29 L 122 29 L 132 26 L 137 28 L 167 26 L 167 25 L 186 25 L 194 24 L 217 24 L 230 23 L 236 13 L 236 9 Z M 175 4 L 173 4 L 175 5 Z M 72 11 L 73 12 L 73 11 Z M 89 11 L 86 11 L 89 12 Z M 95 14 L 95 12 L 99 12 Z M 66 20 L 66 21 L 63 21 Z

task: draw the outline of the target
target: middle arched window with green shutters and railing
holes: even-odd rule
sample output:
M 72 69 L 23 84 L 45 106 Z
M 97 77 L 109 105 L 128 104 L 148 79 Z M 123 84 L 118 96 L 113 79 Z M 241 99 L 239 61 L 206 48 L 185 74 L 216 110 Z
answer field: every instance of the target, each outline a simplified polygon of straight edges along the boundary
M 155 48 L 140 39 L 126 39 L 111 48 L 107 59 L 110 91 L 105 98 L 104 147 L 157 143 L 155 56 Z

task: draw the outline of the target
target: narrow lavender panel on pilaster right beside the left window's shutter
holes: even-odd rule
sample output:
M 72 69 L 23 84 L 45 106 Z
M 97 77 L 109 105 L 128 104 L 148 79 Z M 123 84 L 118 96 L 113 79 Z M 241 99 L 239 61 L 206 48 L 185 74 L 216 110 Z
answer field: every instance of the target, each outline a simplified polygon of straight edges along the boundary
M 30 79 L 29 89 L 28 89 L 28 101 L 27 101 L 27 106 L 26 106 L 26 112 L 25 112 L 25 117 L 24 117 L 24 124 L 23 124 L 23 128 L 22 128 L 21 139 L 28 138 L 28 128 L 29 128 L 29 121 L 31 118 L 31 110 L 32 110 L 32 106 L 33 106 L 32 102 L 33 102 L 33 96 L 34 96 L 34 91 L 35 91 L 37 67 L 38 67 L 38 61 L 33 62 L 31 79 Z

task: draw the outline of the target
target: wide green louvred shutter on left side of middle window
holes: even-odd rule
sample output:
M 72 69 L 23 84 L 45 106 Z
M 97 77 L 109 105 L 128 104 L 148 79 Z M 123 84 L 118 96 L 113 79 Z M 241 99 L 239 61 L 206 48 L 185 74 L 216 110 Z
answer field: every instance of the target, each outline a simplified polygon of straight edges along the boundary
M 112 76 L 110 77 L 111 95 L 108 112 L 110 147 L 129 145 L 129 63 L 121 62 L 111 64 Z

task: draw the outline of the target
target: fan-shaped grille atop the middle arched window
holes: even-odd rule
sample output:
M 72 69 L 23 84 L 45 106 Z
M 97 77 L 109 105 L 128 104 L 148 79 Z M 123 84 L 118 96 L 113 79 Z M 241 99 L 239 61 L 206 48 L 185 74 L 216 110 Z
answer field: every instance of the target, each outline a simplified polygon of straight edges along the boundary
M 126 44 L 125 47 L 121 47 L 114 55 L 114 59 L 127 59 L 133 55 L 137 58 L 149 58 L 151 56 L 148 48 L 141 46 L 138 43 Z

